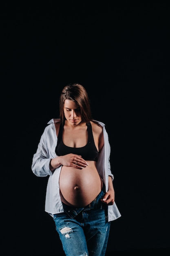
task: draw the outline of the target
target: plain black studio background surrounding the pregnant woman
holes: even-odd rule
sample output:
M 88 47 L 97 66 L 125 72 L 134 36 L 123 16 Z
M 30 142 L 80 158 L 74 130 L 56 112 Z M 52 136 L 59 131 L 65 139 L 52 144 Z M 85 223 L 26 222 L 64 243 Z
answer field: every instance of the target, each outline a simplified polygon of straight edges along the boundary
M 67 83 L 88 91 L 106 124 L 115 201 L 107 253 L 170 247 L 170 5 L 1 4 L 1 255 L 59 255 L 44 212 L 48 177 L 31 171 Z

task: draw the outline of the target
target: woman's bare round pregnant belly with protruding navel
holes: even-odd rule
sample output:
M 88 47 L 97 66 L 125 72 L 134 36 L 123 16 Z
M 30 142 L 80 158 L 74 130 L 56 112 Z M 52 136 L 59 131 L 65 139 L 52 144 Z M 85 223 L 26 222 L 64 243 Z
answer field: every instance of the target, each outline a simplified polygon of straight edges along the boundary
M 60 173 L 60 196 L 62 202 L 75 207 L 90 204 L 102 189 L 102 180 L 95 162 L 90 161 L 82 170 L 62 166 Z

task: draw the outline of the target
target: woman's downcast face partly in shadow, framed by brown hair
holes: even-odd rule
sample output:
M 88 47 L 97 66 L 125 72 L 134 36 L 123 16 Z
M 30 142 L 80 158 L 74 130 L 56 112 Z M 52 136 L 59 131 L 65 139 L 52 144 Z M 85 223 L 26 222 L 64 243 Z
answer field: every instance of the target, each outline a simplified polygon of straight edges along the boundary
M 82 121 L 82 115 L 77 102 L 66 99 L 63 109 L 65 118 L 69 124 L 75 126 Z

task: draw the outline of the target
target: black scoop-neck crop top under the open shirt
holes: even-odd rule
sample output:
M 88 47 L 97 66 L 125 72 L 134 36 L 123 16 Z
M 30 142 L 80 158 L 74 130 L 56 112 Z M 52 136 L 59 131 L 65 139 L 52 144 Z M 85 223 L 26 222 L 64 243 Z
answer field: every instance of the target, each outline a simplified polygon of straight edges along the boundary
M 72 148 L 72 147 L 68 147 L 68 146 L 64 145 L 63 140 L 62 140 L 63 126 L 62 126 L 62 124 L 60 124 L 55 153 L 58 156 L 73 153 L 73 154 L 81 155 L 84 160 L 91 160 L 91 161 L 97 162 L 98 151 L 95 146 L 91 123 L 89 122 L 86 125 L 87 125 L 87 131 L 88 131 L 87 144 L 81 148 Z

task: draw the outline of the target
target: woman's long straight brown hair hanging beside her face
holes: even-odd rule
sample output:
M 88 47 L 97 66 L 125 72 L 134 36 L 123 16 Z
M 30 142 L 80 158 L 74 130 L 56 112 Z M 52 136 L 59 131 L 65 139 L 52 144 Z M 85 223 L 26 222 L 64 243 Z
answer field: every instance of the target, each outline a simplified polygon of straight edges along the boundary
M 64 107 L 64 101 L 66 99 L 75 101 L 78 104 L 83 121 L 86 121 L 87 123 L 92 120 L 90 100 L 88 98 L 88 93 L 86 89 L 83 87 L 83 85 L 79 83 L 70 83 L 63 88 L 62 93 L 60 95 L 59 117 L 62 121 L 62 124 L 64 124 L 64 121 L 65 121 L 63 107 Z

